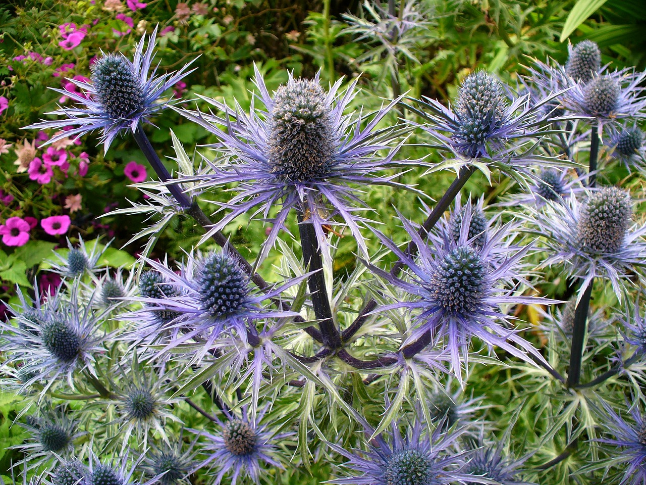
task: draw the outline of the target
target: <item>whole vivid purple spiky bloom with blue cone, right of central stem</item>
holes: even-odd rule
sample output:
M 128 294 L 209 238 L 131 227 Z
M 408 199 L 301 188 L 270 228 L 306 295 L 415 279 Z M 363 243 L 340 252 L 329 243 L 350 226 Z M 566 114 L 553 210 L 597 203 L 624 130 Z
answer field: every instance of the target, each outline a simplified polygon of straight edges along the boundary
M 379 309 L 382 312 L 391 308 L 408 308 L 415 312 L 414 318 L 419 325 L 412 329 L 402 346 L 412 344 L 427 332 L 435 347 L 444 340 L 453 372 L 461 382 L 461 367 L 467 368 L 470 341 L 474 337 L 481 339 L 490 349 L 497 346 L 527 361 L 532 361 L 528 354 L 542 360 L 532 344 L 518 336 L 519 330 L 509 328 L 512 317 L 503 313 L 501 306 L 555 303 L 516 293 L 511 283 L 514 280 L 524 282 L 516 267 L 528 248 L 518 250 L 508 245 L 505 239 L 509 226 L 490 234 L 482 246 L 473 244 L 477 237 L 469 239 L 471 217 L 470 210 L 467 210 L 457 241 L 452 233 L 445 232 L 432 238 L 433 246 L 419 237 L 415 228 L 402 218 L 404 228 L 419 248 L 416 258 L 403 252 L 381 233 L 377 232 L 377 235 L 410 268 L 410 277 L 399 279 L 371 266 L 375 273 L 413 297 L 410 301 L 406 299 Z

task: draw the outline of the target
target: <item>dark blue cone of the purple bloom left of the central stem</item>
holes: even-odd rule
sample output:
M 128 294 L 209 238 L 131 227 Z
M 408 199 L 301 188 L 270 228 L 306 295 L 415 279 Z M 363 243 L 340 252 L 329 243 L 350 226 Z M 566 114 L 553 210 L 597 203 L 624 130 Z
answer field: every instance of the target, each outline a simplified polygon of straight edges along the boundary
M 202 260 L 196 279 L 202 309 L 213 318 L 235 313 L 249 293 L 249 279 L 225 253 L 211 253 Z

